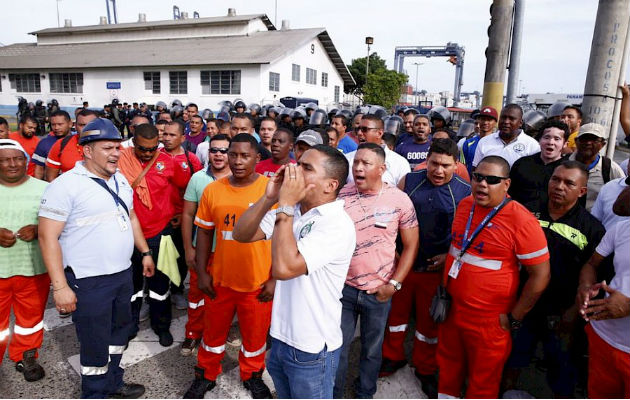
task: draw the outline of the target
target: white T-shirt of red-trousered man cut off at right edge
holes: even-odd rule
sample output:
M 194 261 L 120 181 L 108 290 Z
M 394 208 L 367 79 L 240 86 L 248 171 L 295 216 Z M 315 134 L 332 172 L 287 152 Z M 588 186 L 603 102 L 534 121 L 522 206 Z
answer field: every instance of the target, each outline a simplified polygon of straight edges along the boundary
M 609 286 L 630 297 L 630 219 L 626 218 L 608 230 L 595 251 L 604 257 L 615 253 L 615 277 Z M 608 296 L 606 293 L 606 297 Z M 591 321 L 591 326 L 606 343 L 630 353 L 630 316 Z

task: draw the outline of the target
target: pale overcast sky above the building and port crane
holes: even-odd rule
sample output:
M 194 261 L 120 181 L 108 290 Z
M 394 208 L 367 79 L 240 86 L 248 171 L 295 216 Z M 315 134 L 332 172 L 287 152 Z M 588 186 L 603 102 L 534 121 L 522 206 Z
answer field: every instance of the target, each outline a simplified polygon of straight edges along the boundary
M 4 0 L 3 3 L 9 3 Z M 11 2 L 0 13 L 0 42 L 33 42 L 29 35 L 57 26 L 57 0 Z M 490 0 L 277 0 L 277 25 L 283 19 L 292 29 L 325 27 L 349 64 L 367 53 L 365 37 L 374 37 L 372 52 L 393 67 L 396 46 L 444 46 L 456 42 L 466 49 L 463 91 L 483 90 L 490 23 Z M 521 54 L 522 93 L 583 93 L 590 55 L 596 0 L 527 0 Z M 148 21 L 172 19 L 173 5 L 192 17 L 222 16 L 228 7 L 237 14 L 265 13 L 274 21 L 274 0 L 118 0 L 118 22 L 135 22 L 138 13 Z M 105 0 L 60 0 L 59 18 L 73 26 L 94 25 L 107 15 Z M 8 4 L 5 4 L 8 7 Z M 121 51 L 129 51 L 121 47 Z M 407 58 L 409 83 L 430 92 L 453 90 L 455 67 L 445 58 Z M 507 84 L 507 79 L 506 79 Z

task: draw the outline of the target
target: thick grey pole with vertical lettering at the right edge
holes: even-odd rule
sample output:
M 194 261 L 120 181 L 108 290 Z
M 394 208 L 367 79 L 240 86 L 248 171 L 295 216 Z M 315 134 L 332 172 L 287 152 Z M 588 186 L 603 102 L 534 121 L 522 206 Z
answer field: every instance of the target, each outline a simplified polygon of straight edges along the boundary
M 629 20 L 630 0 L 599 1 L 582 112 L 584 123 L 596 122 L 609 130 L 609 156 L 614 153 L 619 126 L 620 105 L 616 103 L 621 102 L 618 86 L 625 76 Z

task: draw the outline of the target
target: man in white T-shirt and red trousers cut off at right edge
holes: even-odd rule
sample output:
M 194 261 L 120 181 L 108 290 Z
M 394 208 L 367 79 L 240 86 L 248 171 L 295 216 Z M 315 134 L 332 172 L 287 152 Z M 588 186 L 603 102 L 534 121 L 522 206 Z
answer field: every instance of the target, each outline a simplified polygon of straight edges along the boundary
M 589 345 L 588 397 L 630 397 L 630 188 L 626 187 L 613 205 L 615 214 L 626 217 L 606 232 L 591 259 L 580 273 L 577 306 L 590 324 L 586 326 Z M 595 283 L 596 268 L 614 253 L 615 277 Z M 606 297 L 593 298 L 603 290 Z

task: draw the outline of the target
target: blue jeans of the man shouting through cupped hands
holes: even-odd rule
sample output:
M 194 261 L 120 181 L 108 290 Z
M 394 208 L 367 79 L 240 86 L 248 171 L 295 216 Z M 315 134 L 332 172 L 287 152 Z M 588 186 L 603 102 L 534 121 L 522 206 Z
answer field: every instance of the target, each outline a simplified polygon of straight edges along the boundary
M 340 348 L 306 353 L 271 338 L 267 371 L 279 399 L 330 399 Z

